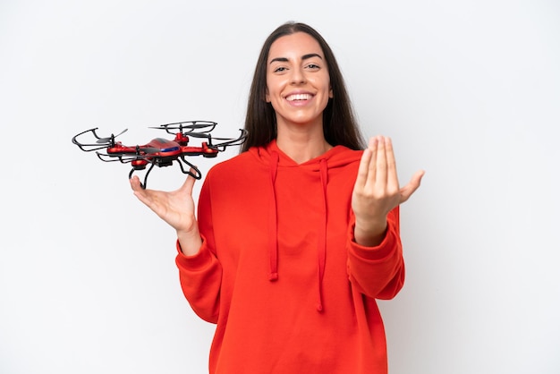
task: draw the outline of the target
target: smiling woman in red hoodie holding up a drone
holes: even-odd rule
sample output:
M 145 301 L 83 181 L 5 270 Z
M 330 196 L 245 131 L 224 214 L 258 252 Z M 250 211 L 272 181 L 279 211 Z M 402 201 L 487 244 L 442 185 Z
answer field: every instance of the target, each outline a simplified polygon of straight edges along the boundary
M 316 30 L 266 40 L 242 153 L 211 168 L 198 220 L 188 177 L 135 195 L 177 232 L 183 293 L 216 323 L 210 373 L 386 373 L 375 299 L 404 280 L 391 140 L 361 149 L 341 72 Z

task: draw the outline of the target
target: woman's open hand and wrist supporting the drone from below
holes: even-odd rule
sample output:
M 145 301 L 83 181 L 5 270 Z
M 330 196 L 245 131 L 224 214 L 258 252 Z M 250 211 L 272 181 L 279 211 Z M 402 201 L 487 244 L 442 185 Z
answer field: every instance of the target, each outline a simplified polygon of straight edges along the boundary
M 143 189 L 137 175 L 132 176 L 130 180 L 134 195 L 177 231 L 185 254 L 195 254 L 202 243 L 192 199 L 195 181 L 189 175 L 178 190 L 167 192 Z

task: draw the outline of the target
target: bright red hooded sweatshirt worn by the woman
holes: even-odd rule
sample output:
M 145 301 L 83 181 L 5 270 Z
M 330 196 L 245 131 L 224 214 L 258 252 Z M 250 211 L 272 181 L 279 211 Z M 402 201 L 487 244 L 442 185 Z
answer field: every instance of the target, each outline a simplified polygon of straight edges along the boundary
M 298 165 L 273 141 L 209 171 L 202 248 L 176 262 L 192 309 L 216 323 L 211 374 L 387 372 L 375 299 L 403 286 L 398 208 L 378 247 L 353 242 L 360 157 L 338 146 Z

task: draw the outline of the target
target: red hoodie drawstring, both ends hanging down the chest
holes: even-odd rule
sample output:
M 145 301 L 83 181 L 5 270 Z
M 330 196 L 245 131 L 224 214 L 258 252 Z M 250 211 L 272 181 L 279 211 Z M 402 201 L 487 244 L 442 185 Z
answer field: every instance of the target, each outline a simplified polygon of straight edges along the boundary
M 268 225 L 270 227 L 270 273 L 268 279 L 276 281 L 278 279 L 278 213 L 276 206 L 276 174 L 278 171 L 279 155 L 272 151 L 270 157 L 270 191 L 272 198 L 270 199 Z M 323 211 L 321 212 L 321 220 L 318 227 L 318 303 L 317 310 L 323 311 L 323 277 L 325 276 L 325 264 L 327 262 L 327 160 L 322 158 L 319 162 L 319 174 L 321 180 Z

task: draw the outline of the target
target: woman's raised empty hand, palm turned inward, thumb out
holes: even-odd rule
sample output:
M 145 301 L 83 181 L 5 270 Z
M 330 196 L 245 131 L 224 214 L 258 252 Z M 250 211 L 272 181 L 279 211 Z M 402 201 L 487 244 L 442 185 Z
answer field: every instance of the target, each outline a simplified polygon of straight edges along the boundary
M 423 170 L 416 172 L 411 182 L 400 188 L 391 139 L 371 138 L 361 157 L 352 191 L 355 241 L 368 247 L 377 246 L 386 232 L 387 214 L 412 196 L 420 187 L 423 175 Z

